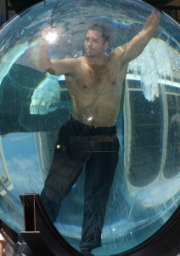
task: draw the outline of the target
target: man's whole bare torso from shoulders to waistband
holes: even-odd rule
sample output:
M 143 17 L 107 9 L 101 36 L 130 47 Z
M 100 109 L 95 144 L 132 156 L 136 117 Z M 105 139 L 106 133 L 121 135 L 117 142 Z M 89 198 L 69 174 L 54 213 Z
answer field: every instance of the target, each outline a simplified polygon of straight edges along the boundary
M 115 125 L 127 66 L 113 55 L 106 56 L 102 65 L 88 63 L 86 57 L 76 61 L 74 73 L 65 75 L 73 117 L 96 127 Z

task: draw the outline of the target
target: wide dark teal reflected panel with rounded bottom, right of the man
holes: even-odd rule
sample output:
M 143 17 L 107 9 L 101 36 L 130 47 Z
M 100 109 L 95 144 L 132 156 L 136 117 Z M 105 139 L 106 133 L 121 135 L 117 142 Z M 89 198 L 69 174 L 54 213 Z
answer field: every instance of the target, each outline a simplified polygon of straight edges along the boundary
M 160 172 L 162 106 L 160 98 L 148 102 L 139 90 L 130 91 L 130 102 L 132 148 L 129 180 L 132 185 L 142 187 L 152 183 Z

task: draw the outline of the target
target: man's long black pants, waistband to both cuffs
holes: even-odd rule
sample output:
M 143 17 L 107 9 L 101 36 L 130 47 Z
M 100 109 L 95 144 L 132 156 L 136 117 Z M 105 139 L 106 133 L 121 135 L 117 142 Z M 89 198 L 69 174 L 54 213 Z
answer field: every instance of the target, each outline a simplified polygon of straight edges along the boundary
M 80 247 L 101 246 L 106 206 L 118 161 L 116 128 L 84 125 L 71 118 L 59 131 L 53 163 L 42 189 L 42 202 L 53 221 L 84 164 L 84 216 Z

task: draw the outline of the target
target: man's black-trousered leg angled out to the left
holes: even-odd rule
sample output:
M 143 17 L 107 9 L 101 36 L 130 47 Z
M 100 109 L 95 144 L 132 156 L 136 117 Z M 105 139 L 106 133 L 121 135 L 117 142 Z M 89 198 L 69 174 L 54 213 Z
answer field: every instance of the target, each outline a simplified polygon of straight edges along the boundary
M 82 156 L 74 157 L 70 154 L 70 148 L 63 150 L 59 147 L 57 143 L 52 166 L 41 193 L 42 203 L 53 222 L 59 214 L 61 201 L 70 192 L 84 165 Z

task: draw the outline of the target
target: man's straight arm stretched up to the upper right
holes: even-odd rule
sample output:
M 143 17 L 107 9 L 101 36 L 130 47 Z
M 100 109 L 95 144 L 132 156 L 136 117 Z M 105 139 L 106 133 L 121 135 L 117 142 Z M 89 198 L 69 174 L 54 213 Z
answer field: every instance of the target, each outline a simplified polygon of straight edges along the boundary
M 138 34 L 134 38 L 132 38 L 129 43 L 124 44 L 121 47 L 117 47 L 113 52 L 115 53 L 115 55 L 120 55 L 121 61 L 123 61 L 124 63 L 132 61 L 143 52 L 145 46 L 155 35 L 159 24 L 160 14 L 156 9 L 153 9 L 151 15 L 149 15 L 149 19 L 143 26 L 143 29 L 138 32 Z

